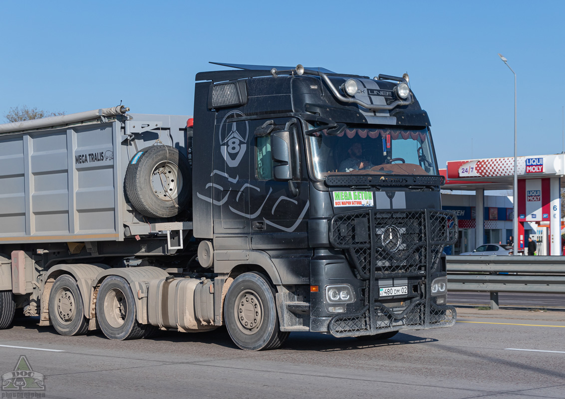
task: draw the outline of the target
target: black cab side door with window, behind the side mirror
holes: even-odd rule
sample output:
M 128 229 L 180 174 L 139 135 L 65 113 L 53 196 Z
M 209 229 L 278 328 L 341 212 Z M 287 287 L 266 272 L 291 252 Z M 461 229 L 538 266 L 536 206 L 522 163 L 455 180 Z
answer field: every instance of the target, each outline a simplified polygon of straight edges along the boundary
M 251 248 L 307 248 L 310 203 L 307 171 L 301 165 L 305 152 L 299 121 L 250 121 L 250 132 L 254 135 L 249 182 Z M 276 176 L 280 163 L 273 159 L 275 141 L 289 145 L 290 180 Z

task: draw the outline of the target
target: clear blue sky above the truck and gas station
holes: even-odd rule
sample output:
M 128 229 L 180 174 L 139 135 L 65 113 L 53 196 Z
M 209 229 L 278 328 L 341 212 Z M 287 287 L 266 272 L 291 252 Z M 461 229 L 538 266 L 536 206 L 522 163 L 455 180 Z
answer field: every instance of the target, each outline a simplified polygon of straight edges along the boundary
M 438 162 L 562 151 L 565 1 L 3 1 L 0 121 L 123 100 L 192 115 L 208 61 L 410 74 Z M 472 142 L 472 146 L 471 146 Z

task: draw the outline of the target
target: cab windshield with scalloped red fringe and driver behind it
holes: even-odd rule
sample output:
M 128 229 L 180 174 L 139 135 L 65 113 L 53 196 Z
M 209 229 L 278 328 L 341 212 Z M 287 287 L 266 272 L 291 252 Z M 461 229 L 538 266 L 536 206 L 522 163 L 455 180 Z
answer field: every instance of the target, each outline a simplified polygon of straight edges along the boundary
M 427 129 L 347 126 L 338 135 L 321 130 L 308 139 L 318 179 L 348 173 L 438 174 Z

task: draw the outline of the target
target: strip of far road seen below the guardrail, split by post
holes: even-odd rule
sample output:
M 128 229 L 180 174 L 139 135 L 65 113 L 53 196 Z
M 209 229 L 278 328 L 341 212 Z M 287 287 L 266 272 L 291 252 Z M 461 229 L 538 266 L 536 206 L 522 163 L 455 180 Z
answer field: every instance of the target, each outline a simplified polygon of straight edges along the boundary
M 447 302 L 451 305 L 489 306 L 490 294 L 488 292 L 448 292 Z M 503 308 L 565 310 L 565 294 L 501 292 L 498 294 L 498 304 Z

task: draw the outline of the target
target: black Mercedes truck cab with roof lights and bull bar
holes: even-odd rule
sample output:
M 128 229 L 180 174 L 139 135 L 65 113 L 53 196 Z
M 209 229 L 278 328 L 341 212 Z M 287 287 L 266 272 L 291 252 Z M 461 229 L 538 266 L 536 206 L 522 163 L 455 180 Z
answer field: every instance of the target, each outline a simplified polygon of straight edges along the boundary
M 226 65 L 241 70 L 199 73 L 195 89 L 201 265 L 266 278 L 282 332 L 453 325 L 442 253 L 457 220 L 441 211 L 431 124 L 407 75 Z M 253 335 L 251 319 L 232 323 Z

